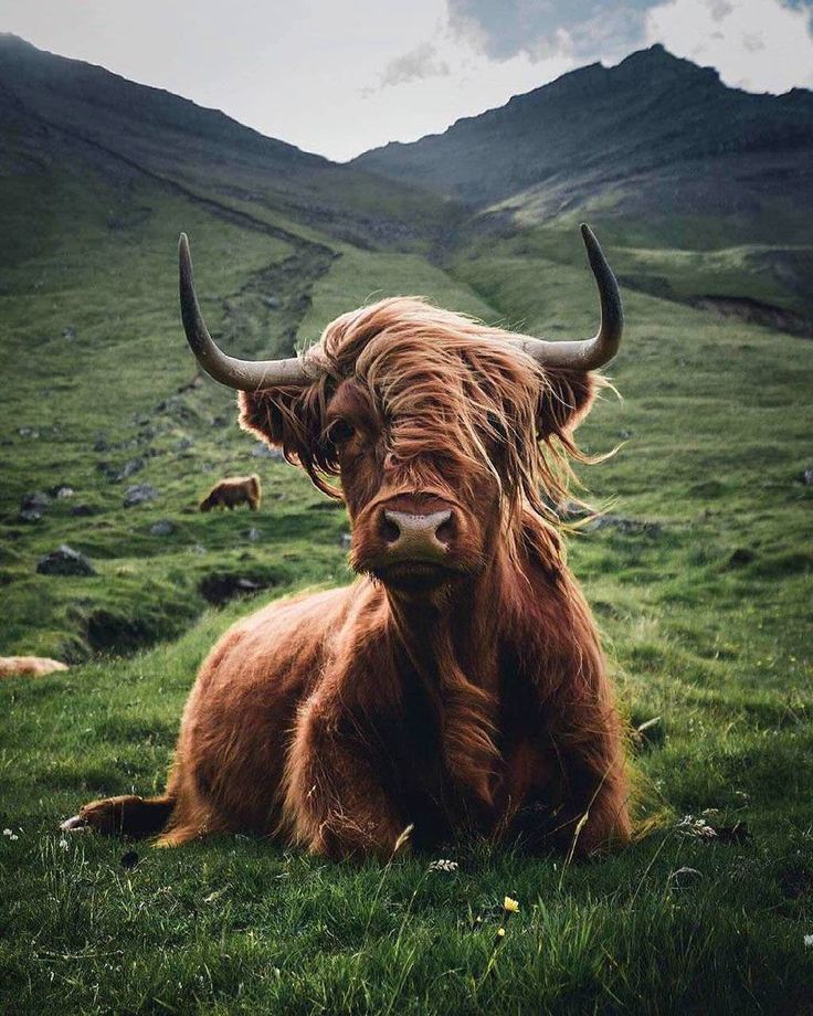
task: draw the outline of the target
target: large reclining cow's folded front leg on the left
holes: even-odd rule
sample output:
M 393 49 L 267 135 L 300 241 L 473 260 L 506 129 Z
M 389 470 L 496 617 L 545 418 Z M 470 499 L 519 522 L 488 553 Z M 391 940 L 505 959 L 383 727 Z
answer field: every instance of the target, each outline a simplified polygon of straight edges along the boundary
M 291 747 L 285 823 L 313 854 L 389 859 L 408 819 L 381 785 L 376 739 L 336 702 L 313 699 Z

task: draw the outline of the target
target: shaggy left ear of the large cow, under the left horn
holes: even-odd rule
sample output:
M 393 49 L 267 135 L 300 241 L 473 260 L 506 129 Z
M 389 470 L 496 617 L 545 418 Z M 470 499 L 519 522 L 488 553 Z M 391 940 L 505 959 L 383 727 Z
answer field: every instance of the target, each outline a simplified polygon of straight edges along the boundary
M 241 392 L 240 425 L 281 448 L 288 462 L 303 466 L 312 475 L 320 468 L 316 461 L 323 426 L 318 385 Z

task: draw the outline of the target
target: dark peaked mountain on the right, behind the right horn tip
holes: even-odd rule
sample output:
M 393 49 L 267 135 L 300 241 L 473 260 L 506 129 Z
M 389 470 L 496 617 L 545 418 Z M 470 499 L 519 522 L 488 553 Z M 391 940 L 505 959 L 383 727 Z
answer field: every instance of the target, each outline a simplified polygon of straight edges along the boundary
M 809 91 L 729 88 L 655 45 L 352 165 L 465 203 L 469 257 L 560 261 L 588 219 L 627 287 L 813 335 Z

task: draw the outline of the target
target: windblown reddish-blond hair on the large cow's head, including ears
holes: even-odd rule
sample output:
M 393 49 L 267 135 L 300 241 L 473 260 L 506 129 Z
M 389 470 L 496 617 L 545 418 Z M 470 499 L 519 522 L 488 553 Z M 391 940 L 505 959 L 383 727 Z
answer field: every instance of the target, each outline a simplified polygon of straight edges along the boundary
M 509 337 L 419 297 L 380 300 L 325 329 L 319 347 L 328 370 L 318 381 L 276 389 L 273 399 L 242 393 L 241 423 L 282 445 L 320 490 L 340 497 L 325 480 L 339 465 L 324 419 L 336 385 L 353 378 L 392 423 L 402 463 L 436 456 L 462 484 L 490 473 L 509 519 L 525 508 L 552 522 L 550 506 L 566 497 L 572 479 L 570 461 L 590 461 L 573 430 L 602 381 L 543 370 L 510 347 Z

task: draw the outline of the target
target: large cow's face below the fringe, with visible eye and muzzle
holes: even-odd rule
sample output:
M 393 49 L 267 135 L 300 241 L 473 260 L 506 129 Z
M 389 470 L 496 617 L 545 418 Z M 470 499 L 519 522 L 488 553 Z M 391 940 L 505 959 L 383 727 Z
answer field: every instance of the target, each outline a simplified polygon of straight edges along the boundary
M 456 427 L 423 410 L 388 412 L 366 384 L 346 381 L 325 420 L 352 522 L 352 567 L 413 593 L 479 572 L 500 520 L 489 437 L 461 446 Z

